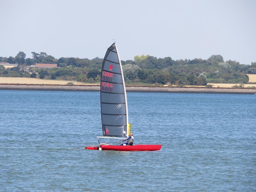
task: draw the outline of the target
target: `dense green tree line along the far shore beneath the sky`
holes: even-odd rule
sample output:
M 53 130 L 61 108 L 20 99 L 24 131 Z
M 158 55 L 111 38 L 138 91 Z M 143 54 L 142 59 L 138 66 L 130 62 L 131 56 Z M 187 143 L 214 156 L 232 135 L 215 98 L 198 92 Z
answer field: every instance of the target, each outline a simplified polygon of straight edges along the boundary
M 15 57 L 0 57 L 0 62 L 17 63 L 14 68 L 0 66 L 0 76 L 31 77 L 41 79 L 76 80 L 85 83 L 99 83 L 103 59 L 61 57 L 55 59 L 46 52 L 31 52 L 32 58 L 26 58 L 24 52 Z M 156 58 L 150 55 L 136 55 L 134 60 L 121 61 L 126 84 L 174 84 L 206 85 L 207 83 L 245 84 L 246 74 L 256 74 L 256 62 L 241 65 L 239 62 L 224 61 L 221 55 L 212 55 L 207 60 L 172 60 L 171 57 Z M 27 66 L 35 63 L 57 63 L 58 68 L 38 69 Z

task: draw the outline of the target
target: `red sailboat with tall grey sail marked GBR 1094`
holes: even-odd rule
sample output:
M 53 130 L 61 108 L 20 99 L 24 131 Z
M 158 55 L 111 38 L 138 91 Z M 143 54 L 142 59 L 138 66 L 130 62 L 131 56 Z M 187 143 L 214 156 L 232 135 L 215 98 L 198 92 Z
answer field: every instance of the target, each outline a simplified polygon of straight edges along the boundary
M 116 42 L 108 48 L 102 63 L 100 103 L 102 136 L 97 137 L 99 145 L 87 146 L 85 149 L 117 151 L 155 151 L 161 149 L 162 145 L 123 146 L 100 143 L 100 138 L 124 140 L 130 135 L 124 74 Z

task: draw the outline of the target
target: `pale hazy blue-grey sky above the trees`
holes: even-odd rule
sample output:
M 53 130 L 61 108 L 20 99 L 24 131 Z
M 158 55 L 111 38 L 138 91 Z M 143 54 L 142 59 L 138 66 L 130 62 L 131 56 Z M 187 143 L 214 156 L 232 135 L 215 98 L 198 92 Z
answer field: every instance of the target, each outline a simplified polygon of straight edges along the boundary
M 256 61 L 256 1 L 0 0 L 0 56 L 103 58 L 116 39 L 121 60 Z

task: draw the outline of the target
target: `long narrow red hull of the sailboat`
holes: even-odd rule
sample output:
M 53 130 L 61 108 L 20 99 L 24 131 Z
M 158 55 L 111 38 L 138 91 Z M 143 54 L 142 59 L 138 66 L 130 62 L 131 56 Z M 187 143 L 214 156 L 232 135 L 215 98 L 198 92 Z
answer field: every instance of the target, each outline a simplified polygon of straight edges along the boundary
M 114 151 L 157 151 L 160 150 L 162 145 L 101 145 L 101 150 L 114 150 Z M 99 150 L 99 147 L 85 147 L 85 149 Z

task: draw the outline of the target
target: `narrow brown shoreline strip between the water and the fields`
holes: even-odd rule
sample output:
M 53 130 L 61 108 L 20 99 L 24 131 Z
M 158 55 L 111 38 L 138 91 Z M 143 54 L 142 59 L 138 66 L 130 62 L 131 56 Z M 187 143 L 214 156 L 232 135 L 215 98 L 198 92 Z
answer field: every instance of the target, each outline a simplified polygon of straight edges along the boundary
M 0 90 L 21 91 L 86 91 L 100 92 L 100 86 L 76 85 L 6 85 L 0 84 Z M 254 94 L 256 89 L 230 88 L 193 88 L 193 87 L 126 87 L 127 92 L 156 92 L 156 93 L 219 93 L 219 94 Z

